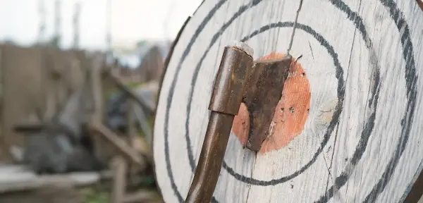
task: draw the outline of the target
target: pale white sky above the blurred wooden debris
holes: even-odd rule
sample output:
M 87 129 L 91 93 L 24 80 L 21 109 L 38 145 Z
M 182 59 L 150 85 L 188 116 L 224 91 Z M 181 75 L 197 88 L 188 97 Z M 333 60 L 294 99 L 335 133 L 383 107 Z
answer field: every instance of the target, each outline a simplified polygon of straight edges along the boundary
M 0 0 L 0 41 L 12 40 L 29 46 L 54 34 L 56 0 Z M 80 47 L 107 48 L 108 0 L 61 0 L 61 47 L 73 45 L 73 13 L 80 2 Z M 133 46 L 140 40 L 173 39 L 185 19 L 202 0 L 109 0 L 111 4 L 111 39 L 113 47 Z M 46 30 L 38 36 L 44 4 Z

